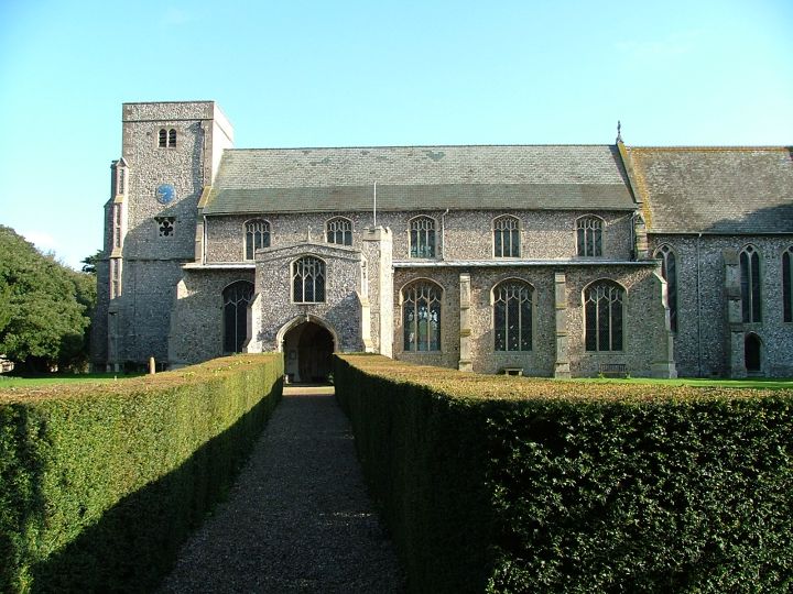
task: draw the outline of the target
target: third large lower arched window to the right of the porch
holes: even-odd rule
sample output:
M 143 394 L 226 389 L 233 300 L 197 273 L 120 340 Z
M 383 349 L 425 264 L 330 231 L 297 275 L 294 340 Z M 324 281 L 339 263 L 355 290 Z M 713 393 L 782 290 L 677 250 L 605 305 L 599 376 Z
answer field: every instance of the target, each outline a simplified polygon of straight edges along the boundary
M 621 351 L 624 289 L 612 280 L 598 280 L 584 289 L 587 351 Z

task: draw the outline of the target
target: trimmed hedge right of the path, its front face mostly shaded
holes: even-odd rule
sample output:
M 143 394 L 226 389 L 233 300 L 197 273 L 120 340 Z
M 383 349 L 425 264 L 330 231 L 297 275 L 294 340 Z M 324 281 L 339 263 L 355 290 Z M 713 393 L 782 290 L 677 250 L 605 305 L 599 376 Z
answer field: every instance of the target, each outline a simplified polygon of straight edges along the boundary
M 793 591 L 793 392 L 336 360 L 414 592 Z

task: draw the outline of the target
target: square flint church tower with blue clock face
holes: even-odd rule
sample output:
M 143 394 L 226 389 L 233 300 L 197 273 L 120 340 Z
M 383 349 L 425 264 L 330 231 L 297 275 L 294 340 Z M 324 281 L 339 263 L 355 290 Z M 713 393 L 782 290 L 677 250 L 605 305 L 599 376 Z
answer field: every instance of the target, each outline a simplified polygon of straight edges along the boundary
M 124 103 L 98 266 L 95 358 L 167 361 L 174 287 L 195 260 L 198 202 L 233 129 L 214 101 Z

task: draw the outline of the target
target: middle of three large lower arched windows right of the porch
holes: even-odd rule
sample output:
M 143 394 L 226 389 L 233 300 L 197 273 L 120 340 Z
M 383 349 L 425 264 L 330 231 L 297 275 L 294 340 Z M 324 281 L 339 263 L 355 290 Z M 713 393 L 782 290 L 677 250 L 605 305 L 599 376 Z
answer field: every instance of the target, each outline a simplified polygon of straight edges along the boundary
M 493 336 L 497 351 L 531 351 L 534 289 L 510 279 L 493 287 Z

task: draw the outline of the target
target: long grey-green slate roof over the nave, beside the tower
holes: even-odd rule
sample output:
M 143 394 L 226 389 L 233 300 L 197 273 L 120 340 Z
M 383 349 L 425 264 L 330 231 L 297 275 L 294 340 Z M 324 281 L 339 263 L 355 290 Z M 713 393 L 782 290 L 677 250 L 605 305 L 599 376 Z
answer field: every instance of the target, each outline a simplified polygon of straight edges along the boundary
M 616 146 L 387 146 L 224 152 L 206 215 L 633 209 Z

